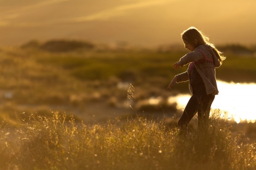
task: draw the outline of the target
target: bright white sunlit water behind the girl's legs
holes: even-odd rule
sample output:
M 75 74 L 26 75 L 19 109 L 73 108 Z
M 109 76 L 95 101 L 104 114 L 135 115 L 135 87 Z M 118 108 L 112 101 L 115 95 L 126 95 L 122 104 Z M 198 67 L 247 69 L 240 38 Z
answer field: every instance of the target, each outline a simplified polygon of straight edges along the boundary
M 228 119 L 233 119 L 237 123 L 256 121 L 255 83 L 234 83 L 217 81 L 219 95 L 215 96 L 212 104 L 214 110 L 220 109 L 221 115 Z M 169 103 L 177 103 L 177 109 L 185 108 L 190 95 L 178 95 L 169 98 Z

